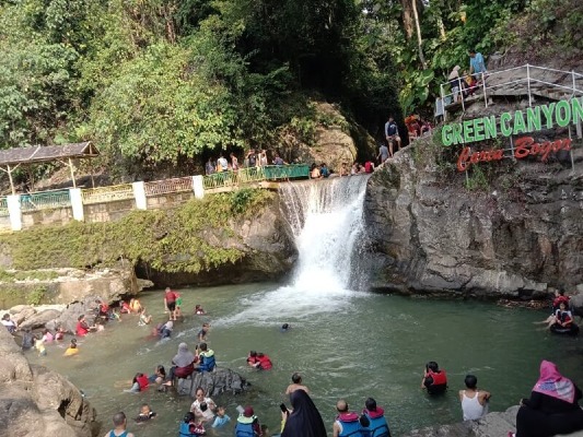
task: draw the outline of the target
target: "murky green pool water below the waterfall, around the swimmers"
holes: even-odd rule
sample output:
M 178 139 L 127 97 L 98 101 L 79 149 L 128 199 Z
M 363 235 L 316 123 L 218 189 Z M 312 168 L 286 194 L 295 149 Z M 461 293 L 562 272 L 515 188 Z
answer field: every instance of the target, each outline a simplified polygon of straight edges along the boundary
M 325 287 L 322 287 L 325 288 Z M 261 423 L 279 427 L 279 404 L 293 371 L 301 371 L 331 435 L 335 403 L 348 400 L 361 410 L 373 397 L 385 408 L 394 436 L 415 428 L 459 422 L 457 390 L 467 373 L 479 387 L 492 393 L 490 411 L 503 411 L 528 395 L 537 379 L 540 359 L 558 363 L 560 369 L 583 383 L 579 339 L 552 336 L 532 322 L 546 312 L 508 309 L 493 304 L 463 300 L 429 300 L 350 291 L 300 291 L 277 284 L 247 284 L 213 288 L 179 290 L 185 317 L 175 324 L 170 341 L 150 335 L 151 327 L 138 327 L 137 316 L 125 315 L 106 330 L 80 342 L 80 354 L 62 357 L 66 347 L 49 345 L 48 355 L 31 361 L 67 376 L 84 390 L 109 428 L 117 411 L 136 416 L 148 402 L 159 417 L 151 423 L 130 423 L 137 437 L 176 436 L 178 422 L 191 400 L 149 390 L 124 393 L 137 371 L 152 373 L 155 365 L 170 367 L 178 343 L 194 349 L 203 321 L 211 322 L 209 344 L 219 366 L 244 375 L 250 390 L 214 399 L 234 420 L 237 404 L 253 404 Z M 140 297 L 153 314 L 153 323 L 164 320 L 163 292 Z M 195 304 L 207 316 L 194 316 Z M 282 333 L 279 327 L 292 329 Z M 270 371 L 246 367 L 249 350 L 267 353 Z M 436 361 L 447 370 L 445 397 L 429 398 L 421 389 L 422 369 Z M 231 436 L 232 427 L 219 436 Z

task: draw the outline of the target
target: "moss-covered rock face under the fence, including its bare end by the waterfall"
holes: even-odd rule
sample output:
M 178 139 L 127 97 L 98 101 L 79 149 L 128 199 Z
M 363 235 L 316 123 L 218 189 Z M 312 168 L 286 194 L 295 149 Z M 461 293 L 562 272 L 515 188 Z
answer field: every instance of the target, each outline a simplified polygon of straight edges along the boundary
M 113 267 L 125 260 L 161 274 L 186 274 L 185 283 L 196 282 L 193 277 L 199 273 L 247 262 L 254 269 L 281 274 L 293 263 L 294 249 L 289 234 L 279 231 L 284 222 L 279 220 L 277 201 L 273 192 L 244 189 L 191 200 L 172 210 L 132 211 L 117 222 L 73 222 L 2 235 L 0 262 L 5 269 L 33 270 Z M 268 221 L 260 222 L 260 217 Z M 261 226 L 249 235 L 245 223 L 256 220 Z M 256 235 L 280 241 L 281 257 L 257 253 L 270 249 L 257 244 Z M 261 265 L 260 258 L 266 258 L 264 264 L 277 265 Z M 237 279 L 223 276 L 221 282 Z

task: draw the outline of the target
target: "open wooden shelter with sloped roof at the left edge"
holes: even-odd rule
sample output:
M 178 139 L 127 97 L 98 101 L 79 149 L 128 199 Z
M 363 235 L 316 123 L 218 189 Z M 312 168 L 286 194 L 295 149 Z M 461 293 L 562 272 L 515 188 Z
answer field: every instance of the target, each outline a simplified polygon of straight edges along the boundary
M 15 194 L 16 191 L 14 190 L 14 184 L 12 181 L 12 172 L 21 165 L 50 163 L 56 161 L 69 166 L 71 178 L 73 179 L 73 188 L 77 188 L 72 160 L 90 158 L 98 155 L 100 152 L 91 141 L 75 144 L 36 145 L 33 147 L 0 150 L 0 170 L 8 174 L 12 194 Z

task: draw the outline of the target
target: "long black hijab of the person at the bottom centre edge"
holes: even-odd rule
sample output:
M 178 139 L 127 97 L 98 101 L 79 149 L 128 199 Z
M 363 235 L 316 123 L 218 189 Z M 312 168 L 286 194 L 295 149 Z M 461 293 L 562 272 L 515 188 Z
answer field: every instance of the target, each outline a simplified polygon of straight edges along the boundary
M 324 421 L 310 395 L 298 389 L 290 399 L 293 411 L 285 421 L 281 437 L 326 437 Z

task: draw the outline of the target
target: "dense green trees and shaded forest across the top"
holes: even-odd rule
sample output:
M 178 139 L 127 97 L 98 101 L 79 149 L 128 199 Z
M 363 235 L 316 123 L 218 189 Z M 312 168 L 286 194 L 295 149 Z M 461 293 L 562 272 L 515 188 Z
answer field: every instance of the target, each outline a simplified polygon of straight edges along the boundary
M 468 48 L 581 49 L 582 17 L 578 0 L 0 0 L 0 146 L 93 140 L 110 173 L 186 172 L 310 137 L 318 98 L 377 133 Z

